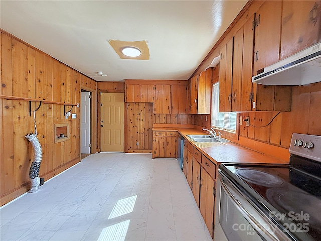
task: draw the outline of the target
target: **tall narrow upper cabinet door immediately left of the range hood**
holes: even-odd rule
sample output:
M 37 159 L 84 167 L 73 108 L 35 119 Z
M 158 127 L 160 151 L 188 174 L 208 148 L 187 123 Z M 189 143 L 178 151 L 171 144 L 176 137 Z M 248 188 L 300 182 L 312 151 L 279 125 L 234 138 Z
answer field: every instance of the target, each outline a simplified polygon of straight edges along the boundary
M 252 15 L 244 24 L 241 111 L 250 111 L 252 109 L 254 17 Z

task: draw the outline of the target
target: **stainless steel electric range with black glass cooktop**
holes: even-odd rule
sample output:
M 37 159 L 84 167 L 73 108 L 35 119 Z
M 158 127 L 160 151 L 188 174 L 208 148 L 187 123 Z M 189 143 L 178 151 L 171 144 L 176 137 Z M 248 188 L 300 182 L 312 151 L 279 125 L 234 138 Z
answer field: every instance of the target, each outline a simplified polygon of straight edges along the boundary
M 221 164 L 214 240 L 321 240 L 321 136 L 294 133 L 289 165 Z

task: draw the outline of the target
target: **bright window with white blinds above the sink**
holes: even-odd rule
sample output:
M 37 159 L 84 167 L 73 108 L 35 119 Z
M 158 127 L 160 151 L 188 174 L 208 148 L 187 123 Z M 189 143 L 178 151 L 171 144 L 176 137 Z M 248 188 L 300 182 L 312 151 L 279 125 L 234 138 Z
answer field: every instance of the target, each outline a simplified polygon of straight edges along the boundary
M 236 112 L 232 112 L 232 113 L 219 112 L 219 96 L 220 96 L 219 90 L 220 90 L 220 83 L 217 82 L 213 84 L 211 126 L 235 132 Z

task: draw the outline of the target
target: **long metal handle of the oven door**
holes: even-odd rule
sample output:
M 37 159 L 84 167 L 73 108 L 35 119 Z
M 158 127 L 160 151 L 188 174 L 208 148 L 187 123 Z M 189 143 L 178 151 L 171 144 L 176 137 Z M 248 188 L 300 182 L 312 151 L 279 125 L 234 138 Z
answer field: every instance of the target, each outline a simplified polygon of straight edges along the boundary
M 226 184 L 220 178 L 222 188 L 225 193 L 233 200 L 235 206 L 239 209 L 239 211 L 243 214 L 244 218 L 250 223 L 250 225 L 260 233 L 267 240 L 275 240 L 279 241 L 278 238 L 273 236 L 264 226 L 262 226 L 245 208 L 243 208 L 242 204 L 233 196 L 233 194 L 228 190 Z

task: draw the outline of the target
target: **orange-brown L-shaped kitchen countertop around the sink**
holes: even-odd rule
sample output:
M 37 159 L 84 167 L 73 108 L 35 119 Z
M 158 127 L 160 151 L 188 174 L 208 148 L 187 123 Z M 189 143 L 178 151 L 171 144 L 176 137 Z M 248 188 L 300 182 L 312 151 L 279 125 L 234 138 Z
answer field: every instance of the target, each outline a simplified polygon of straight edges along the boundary
M 275 157 L 265 155 L 264 153 L 248 149 L 233 142 L 194 142 L 187 135 L 205 134 L 203 131 L 193 128 L 153 128 L 153 130 L 178 131 L 194 147 L 208 157 L 214 164 L 218 163 L 269 163 L 269 164 L 288 164 Z

